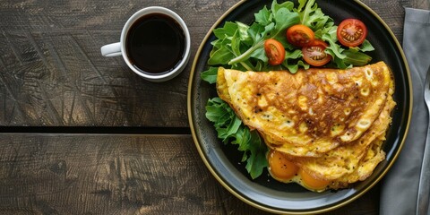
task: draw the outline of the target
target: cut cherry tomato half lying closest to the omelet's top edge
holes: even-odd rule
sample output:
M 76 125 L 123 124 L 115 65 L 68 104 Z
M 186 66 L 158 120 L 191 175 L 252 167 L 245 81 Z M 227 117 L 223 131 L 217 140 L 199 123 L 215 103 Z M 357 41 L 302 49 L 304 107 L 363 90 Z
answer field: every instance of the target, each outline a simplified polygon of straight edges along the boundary
M 314 66 L 322 66 L 331 61 L 331 55 L 325 53 L 327 43 L 323 40 L 315 39 L 314 42 L 307 47 L 302 47 L 303 59 L 307 64 Z

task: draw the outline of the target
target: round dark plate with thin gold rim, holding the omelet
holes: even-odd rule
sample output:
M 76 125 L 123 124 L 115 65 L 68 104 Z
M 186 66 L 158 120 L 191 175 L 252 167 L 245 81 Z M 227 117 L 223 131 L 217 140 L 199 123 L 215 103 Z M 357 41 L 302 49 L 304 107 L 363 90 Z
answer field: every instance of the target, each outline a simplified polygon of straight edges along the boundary
M 408 64 L 391 30 L 365 4 L 358 1 L 317 1 L 323 13 L 330 15 L 336 24 L 351 17 L 365 22 L 368 28 L 367 39 L 375 48 L 371 53 L 372 63 L 384 61 L 391 67 L 396 82 L 394 99 L 397 107 L 393 110 L 392 125 L 383 146 L 387 154 L 386 159 L 374 169 L 374 174 L 366 181 L 337 192 L 313 193 L 299 185 L 282 184 L 268 176 L 267 171 L 253 180 L 248 176 L 245 164 L 240 163 L 242 154 L 234 146 L 225 146 L 219 142 L 213 125 L 204 116 L 206 102 L 217 94 L 215 85 L 202 81 L 200 73 L 208 68 L 211 41 L 215 39 L 211 33 L 212 30 L 223 26 L 226 21 L 251 23 L 254 21 L 254 13 L 257 13 L 265 4 L 270 8 L 271 1 L 251 0 L 236 4 L 219 18 L 203 39 L 194 58 L 188 88 L 188 117 L 193 139 L 204 164 L 210 169 L 212 175 L 242 201 L 271 212 L 304 214 L 331 211 L 366 193 L 381 180 L 397 158 L 409 129 L 412 110 Z

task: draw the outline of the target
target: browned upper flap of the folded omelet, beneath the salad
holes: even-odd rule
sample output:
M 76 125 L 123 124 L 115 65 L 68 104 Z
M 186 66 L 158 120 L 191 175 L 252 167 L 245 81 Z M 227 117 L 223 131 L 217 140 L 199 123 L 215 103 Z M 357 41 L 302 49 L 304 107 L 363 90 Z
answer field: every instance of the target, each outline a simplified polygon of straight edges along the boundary
M 383 62 L 296 74 L 219 68 L 217 89 L 272 148 L 314 157 L 366 132 L 383 109 L 390 82 Z

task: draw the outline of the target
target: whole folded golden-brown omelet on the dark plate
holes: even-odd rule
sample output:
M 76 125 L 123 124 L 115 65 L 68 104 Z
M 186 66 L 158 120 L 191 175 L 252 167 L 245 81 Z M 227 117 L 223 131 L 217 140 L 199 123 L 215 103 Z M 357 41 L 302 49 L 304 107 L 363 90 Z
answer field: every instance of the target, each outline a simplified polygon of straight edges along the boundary
M 295 74 L 220 67 L 217 91 L 271 150 L 330 181 L 327 188 L 366 179 L 385 157 L 382 144 L 396 103 L 392 74 L 383 62 Z

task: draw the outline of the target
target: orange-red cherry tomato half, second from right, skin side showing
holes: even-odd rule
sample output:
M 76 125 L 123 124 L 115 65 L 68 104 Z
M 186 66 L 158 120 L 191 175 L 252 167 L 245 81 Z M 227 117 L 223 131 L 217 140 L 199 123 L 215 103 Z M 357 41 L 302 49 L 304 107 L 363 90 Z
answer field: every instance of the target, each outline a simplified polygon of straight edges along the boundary
M 296 47 L 305 47 L 314 41 L 314 30 L 303 24 L 293 25 L 287 30 L 288 42 Z

